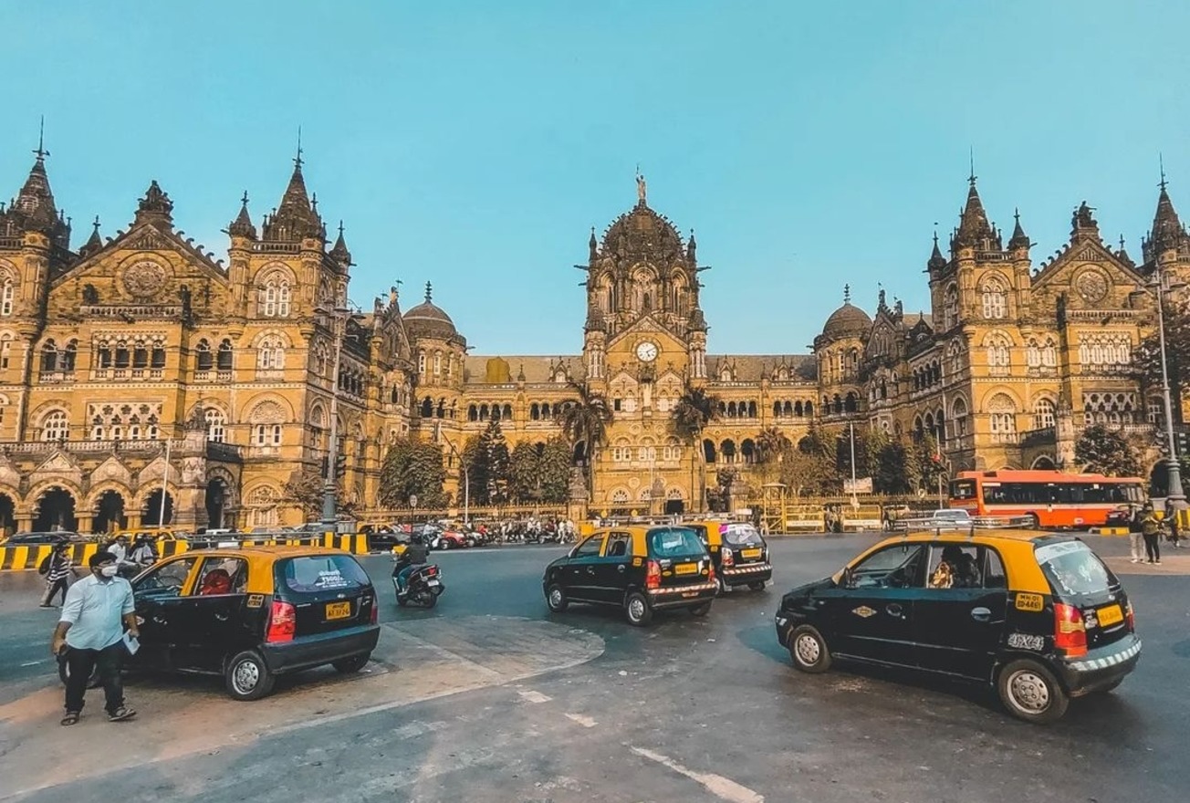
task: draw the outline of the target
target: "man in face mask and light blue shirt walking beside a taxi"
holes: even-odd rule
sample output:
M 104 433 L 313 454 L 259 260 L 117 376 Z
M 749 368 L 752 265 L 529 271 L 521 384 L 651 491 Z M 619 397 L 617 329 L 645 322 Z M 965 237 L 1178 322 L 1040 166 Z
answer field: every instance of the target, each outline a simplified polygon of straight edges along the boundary
M 54 631 L 50 650 L 55 655 L 67 651 L 70 669 L 67 678 L 67 714 L 62 724 L 74 724 L 82 714 L 83 695 L 92 671 L 98 666 L 106 697 L 107 719 L 119 722 L 136 716 L 124 704 L 120 659 L 124 657 L 124 631 L 140 638 L 137 628 L 132 585 L 119 577 L 115 556 L 98 552 L 90 558 L 90 575 L 70 586 L 62 616 Z

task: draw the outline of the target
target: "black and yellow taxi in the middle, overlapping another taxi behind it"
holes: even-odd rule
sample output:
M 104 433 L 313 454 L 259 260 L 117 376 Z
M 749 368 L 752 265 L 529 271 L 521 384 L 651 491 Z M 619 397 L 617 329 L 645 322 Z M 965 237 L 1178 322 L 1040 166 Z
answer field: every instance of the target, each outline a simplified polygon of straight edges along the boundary
M 560 613 L 571 602 L 615 606 L 637 627 L 664 608 L 706 616 L 716 589 L 715 567 L 699 535 L 669 525 L 597 529 L 546 566 L 541 578 L 550 610 Z

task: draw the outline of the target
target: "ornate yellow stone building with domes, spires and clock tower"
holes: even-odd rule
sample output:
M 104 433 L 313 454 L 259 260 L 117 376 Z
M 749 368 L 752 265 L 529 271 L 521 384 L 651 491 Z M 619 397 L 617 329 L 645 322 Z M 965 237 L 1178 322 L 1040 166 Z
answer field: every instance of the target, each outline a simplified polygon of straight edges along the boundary
M 641 178 L 637 205 L 591 232 L 578 265 L 582 353 L 477 356 L 428 283 L 403 314 L 395 289 L 346 309 L 351 253 L 342 227 L 328 243 L 300 155 L 259 230 L 245 195 L 226 261 L 175 227 L 156 182 L 126 230 L 105 239 L 96 221 L 73 250 L 44 156 L 0 211 L 10 532 L 100 532 L 163 513 L 183 528 L 299 523 L 287 484 L 324 470 L 336 406 L 347 498 L 375 504 L 386 444 L 408 433 L 444 444 L 461 498 L 465 440 L 493 419 L 509 446 L 559 434 L 572 383 L 613 408 L 602 444 L 575 444 L 576 464 L 594 460 L 595 510 L 701 509 L 718 468 L 759 482 L 762 431 L 796 443 L 812 422 L 933 433 L 952 471 L 1076 468 L 1088 424 L 1152 441 L 1160 408 L 1132 355 L 1153 326 L 1157 266 L 1190 280 L 1190 236 L 1164 182 L 1141 263 L 1102 240 L 1084 203 L 1070 241 L 1034 266 L 1020 220 L 1006 246 L 972 177 L 948 253 L 935 237 L 929 312 L 881 291 L 872 318 L 848 295 L 813 355 L 716 355 L 694 234 L 649 206 Z M 688 384 L 720 400 L 701 443 L 672 426 Z

